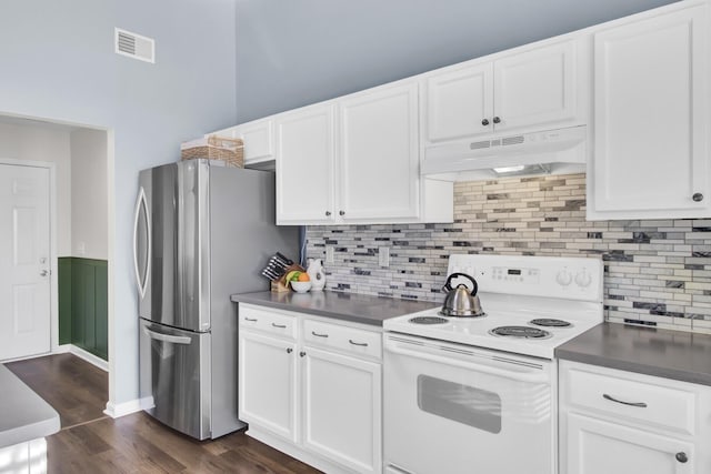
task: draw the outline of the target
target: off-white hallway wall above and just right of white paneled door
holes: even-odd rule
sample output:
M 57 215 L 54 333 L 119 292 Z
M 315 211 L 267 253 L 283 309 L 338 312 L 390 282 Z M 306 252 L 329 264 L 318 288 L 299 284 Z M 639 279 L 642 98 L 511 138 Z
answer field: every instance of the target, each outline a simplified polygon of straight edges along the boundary
M 0 122 L 0 159 L 54 163 L 57 256 L 72 254 L 70 130 L 66 127 Z

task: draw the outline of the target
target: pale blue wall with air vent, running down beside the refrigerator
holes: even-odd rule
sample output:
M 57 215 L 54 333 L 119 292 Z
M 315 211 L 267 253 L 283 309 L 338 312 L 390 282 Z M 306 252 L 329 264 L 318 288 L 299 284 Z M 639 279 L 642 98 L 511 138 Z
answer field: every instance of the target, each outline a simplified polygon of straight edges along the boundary
M 8 0 L 0 113 L 110 130 L 109 399 L 138 397 L 133 206 L 141 169 L 237 123 L 234 0 Z M 114 28 L 156 39 L 156 64 L 114 53 Z

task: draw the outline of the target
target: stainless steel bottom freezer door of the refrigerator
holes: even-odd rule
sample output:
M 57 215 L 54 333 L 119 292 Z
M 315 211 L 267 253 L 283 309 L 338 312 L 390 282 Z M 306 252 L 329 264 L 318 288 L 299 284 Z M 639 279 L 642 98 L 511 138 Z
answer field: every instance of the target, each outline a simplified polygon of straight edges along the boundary
M 189 436 L 210 427 L 210 333 L 193 333 L 140 320 L 140 394 L 147 412 Z

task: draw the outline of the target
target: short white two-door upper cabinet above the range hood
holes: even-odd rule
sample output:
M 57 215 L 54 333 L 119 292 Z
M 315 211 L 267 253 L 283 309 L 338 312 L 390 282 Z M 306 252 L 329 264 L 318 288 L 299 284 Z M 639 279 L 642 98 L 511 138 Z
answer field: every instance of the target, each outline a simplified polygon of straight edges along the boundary
M 588 42 L 547 41 L 425 80 L 427 143 L 585 123 Z

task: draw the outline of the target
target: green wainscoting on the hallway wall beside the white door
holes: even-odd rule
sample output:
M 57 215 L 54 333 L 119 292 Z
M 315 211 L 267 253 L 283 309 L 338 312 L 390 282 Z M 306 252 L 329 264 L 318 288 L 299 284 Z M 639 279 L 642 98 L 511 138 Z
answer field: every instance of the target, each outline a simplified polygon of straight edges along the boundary
M 108 265 L 106 260 L 60 256 L 59 343 L 109 360 Z

